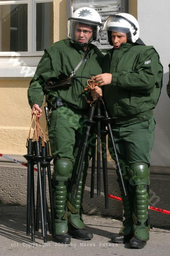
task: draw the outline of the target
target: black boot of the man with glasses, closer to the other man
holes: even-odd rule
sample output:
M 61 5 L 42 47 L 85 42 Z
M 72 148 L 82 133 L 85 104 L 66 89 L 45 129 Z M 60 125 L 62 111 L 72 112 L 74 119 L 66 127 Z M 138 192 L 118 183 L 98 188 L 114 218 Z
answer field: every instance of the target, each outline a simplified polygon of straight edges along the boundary
M 93 238 L 93 234 L 88 232 L 85 228 L 74 228 L 71 224 L 68 225 L 68 234 L 79 240 L 91 240 Z

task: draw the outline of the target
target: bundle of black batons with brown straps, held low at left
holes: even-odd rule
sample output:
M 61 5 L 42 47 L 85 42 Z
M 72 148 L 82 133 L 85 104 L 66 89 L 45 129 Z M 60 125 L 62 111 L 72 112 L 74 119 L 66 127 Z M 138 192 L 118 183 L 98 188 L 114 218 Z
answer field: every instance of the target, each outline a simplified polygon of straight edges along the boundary
M 49 154 L 49 142 L 45 140 L 41 130 L 41 125 L 37 114 L 34 114 L 32 120 L 35 119 L 34 138 L 27 139 L 27 154 L 24 157 L 27 160 L 27 227 L 26 234 L 30 234 L 31 240 L 35 242 L 35 231 L 39 230 L 39 214 L 41 216 L 41 234 L 44 242 L 47 242 L 47 224 L 49 233 L 55 235 L 54 208 L 52 200 L 52 184 L 50 162 L 53 157 Z M 32 124 L 31 120 L 31 124 Z M 30 128 L 31 130 L 31 128 Z M 29 135 L 30 135 L 29 130 Z M 40 136 L 38 136 L 38 134 Z M 34 168 L 37 164 L 37 207 L 35 214 L 35 188 L 34 188 Z M 51 218 L 49 215 L 47 198 L 46 198 L 46 168 L 49 185 L 49 198 L 51 208 Z M 36 215 L 36 217 L 35 217 Z

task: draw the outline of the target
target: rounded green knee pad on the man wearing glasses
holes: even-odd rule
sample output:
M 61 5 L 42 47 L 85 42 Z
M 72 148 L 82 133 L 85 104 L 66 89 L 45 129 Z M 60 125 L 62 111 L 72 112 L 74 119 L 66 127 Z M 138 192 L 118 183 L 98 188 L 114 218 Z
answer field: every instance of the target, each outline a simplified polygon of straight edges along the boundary
M 55 162 L 53 180 L 67 181 L 71 178 L 72 169 L 73 164 L 71 161 L 65 159 L 58 159 Z

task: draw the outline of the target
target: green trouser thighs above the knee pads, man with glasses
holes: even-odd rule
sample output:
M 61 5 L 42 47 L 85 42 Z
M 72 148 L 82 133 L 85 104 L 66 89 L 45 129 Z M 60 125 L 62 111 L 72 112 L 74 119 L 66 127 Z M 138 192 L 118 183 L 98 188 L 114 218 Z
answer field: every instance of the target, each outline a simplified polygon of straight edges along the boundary
M 84 113 L 61 106 L 50 116 L 49 140 L 54 164 L 57 159 L 68 159 L 74 163 L 86 118 Z M 90 144 L 90 140 L 89 140 Z

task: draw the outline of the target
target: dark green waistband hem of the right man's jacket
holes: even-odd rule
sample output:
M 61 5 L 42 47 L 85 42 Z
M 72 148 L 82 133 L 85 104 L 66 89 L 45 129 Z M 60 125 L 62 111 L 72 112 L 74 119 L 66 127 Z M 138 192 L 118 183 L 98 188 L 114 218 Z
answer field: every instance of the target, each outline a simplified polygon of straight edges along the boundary
M 149 120 L 153 116 L 153 111 L 149 110 L 143 112 L 137 116 L 122 116 L 121 118 L 113 118 L 112 124 L 128 124 L 135 122 L 142 122 L 145 120 Z

